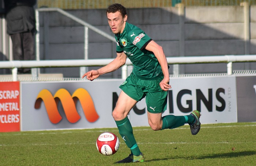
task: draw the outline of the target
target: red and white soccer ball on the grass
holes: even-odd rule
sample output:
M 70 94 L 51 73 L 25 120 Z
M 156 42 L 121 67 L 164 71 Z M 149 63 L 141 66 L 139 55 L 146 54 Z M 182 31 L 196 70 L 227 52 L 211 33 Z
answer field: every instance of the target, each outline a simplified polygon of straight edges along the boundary
M 119 139 L 113 133 L 102 133 L 96 142 L 99 153 L 103 155 L 115 154 L 119 148 L 119 144 Z

